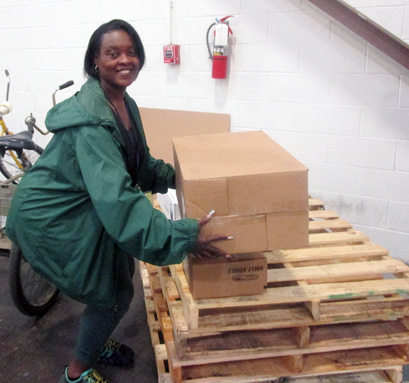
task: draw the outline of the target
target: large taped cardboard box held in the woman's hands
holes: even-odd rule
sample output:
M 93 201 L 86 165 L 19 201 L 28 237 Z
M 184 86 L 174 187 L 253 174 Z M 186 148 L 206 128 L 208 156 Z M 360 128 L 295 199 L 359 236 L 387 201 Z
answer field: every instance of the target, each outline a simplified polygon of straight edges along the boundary
M 235 254 L 308 246 L 308 169 L 263 131 L 173 139 L 182 217 L 216 216 L 205 234 Z

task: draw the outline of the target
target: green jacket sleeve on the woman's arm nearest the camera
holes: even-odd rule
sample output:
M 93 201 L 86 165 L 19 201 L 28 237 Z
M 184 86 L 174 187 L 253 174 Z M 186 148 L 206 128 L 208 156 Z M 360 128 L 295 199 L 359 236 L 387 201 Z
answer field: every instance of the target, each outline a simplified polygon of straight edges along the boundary
M 104 127 L 79 128 L 75 149 L 92 204 L 118 246 L 153 265 L 182 262 L 196 244 L 197 221 L 166 219 L 141 191 L 131 187 L 119 147 Z

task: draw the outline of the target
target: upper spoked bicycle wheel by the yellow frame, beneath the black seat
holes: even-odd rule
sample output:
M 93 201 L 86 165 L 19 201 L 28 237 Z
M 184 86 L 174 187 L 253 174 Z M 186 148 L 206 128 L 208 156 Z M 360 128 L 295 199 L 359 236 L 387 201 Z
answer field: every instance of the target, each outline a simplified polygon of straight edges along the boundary
M 4 157 L 0 157 L 1 174 L 8 179 L 27 172 L 42 152 L 43 148 L 38 145 L 35 146 L 34 150 L 24 149 L 20 157 L 15 150 L 6 150 Z M 19 180 L 12 181 L 12 183 L 17 184 Z

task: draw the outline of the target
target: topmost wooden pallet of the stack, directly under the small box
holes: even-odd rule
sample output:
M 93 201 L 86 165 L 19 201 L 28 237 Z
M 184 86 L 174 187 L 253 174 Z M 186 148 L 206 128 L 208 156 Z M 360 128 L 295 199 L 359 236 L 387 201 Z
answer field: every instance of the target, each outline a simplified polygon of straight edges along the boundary
M 310 208 L 323 206 L 312 201 L 316 205 Z M 189 332 L 409 315 L 409 267 L 389 257 L 386 249 L 371 243 L 350 224 L 340 225 L 336 217 L 332 211 L 311 210 L 308 248 L 265 253 L 269 288 L 262 295 L 194 300 L 182 266 L 171 265 Z

